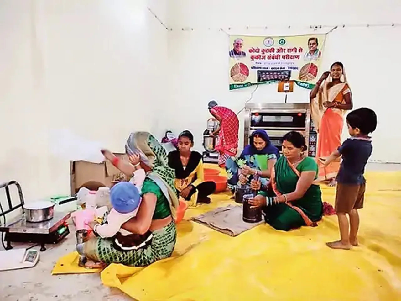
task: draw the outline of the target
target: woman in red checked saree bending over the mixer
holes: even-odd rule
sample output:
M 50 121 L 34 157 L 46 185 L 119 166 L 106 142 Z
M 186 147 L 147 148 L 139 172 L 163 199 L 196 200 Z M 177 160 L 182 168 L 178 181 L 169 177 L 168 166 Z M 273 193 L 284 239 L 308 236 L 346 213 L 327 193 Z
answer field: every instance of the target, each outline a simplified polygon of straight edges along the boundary
M 219 166 L 225 167 L 226 160 L 237 155 L 239 121 L 237 114 L 229 108 L 219 106 L 215 100 L 207 105 L 209 112 L 219 121 L 219 127 L 212 135 L 219 134 L 216 150 L 219 152 Z

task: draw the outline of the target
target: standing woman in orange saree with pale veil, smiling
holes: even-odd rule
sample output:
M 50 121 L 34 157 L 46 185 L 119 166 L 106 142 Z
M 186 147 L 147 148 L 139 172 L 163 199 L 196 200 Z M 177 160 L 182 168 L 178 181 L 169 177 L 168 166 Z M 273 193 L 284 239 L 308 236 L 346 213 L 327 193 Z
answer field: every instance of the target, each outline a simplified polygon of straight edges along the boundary
M 316 158 L 329 156 L 341 145 L 344 113 L 352 110 L 351 90 L 341 62 L 333 63 L 330 71 L 324 72 L 316 82 L 310 92 L 310 108 L 318 132 Z M 330 186 L 334 186 L 340 161 L 332 162 L 326 167 L 318 161 L 318 166 L 318 180 L 328 181 Z

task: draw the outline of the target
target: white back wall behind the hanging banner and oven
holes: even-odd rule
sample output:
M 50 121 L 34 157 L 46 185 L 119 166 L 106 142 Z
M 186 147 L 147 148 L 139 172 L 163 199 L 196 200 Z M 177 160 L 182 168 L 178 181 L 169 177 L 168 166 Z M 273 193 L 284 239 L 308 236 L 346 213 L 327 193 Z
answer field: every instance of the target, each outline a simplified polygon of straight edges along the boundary
M 221 105 L 238 111 L 255 89 L 251 86 L 228 90 L 230 45 L 227 35 L 219 28 L 231 35 L 325 33 L 330 27 L 313 31 L 309 26 L 399 22 L 401 2 L 253 0 L 245 4 L 235 0 L 172 0 L 169 12 L 168 26 L 172 31 L 168 36 L 168 54 L 175 76 L 170 78 L 170 110 L 165 114 L 170 116 L 169 124 L 176 132 L 184 128 L 192 130 L 196 148 L 202 150 L 202 132 L 210 117 L 207 102 L 214 98 Z M 268 28 L 264 29 L 265 26 Z M 401 69 L 399 36 L 400 26 L 340 26 L 326 40 L 322 67 L 329 68 L 332 62 L 342 61 L 352 89 L 354 108 L 367 106 L 377 112 L 379 126 L 373 134 L 373 160 L 401 162 L 401 134 L 396 130 L 401 108 L 397 89 L 398 70 Z M 288 96 L 288 102 L 309 101 L 309 90 L 295 89 Z M 277 93 L 275 84 L 260 85 L 252 98 L 252 102 L 283 101 L 284 95 Z M 241 141 L 242 127 L 243 124 Z

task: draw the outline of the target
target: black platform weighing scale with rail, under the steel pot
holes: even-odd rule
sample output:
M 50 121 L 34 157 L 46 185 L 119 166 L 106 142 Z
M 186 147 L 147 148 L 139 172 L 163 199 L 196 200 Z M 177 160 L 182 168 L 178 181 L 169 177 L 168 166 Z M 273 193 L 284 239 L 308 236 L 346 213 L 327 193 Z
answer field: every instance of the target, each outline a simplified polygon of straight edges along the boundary
M 20 203 L 18 203 L 17 205 L 13 205 L 11 201 L 9 188 L 10 185 L 16 185 L 18 189 Z M 11 242 L 32 242 L 40 244 L 40 250 L 45 251 L 45 244 L 57 244 L 70 233 L 67 223 L 67 220 L 71 216 L 70 213 L 55 212 L 51 220 L 37 223 L 27 222 L 25 220 L 24 214 L 22 213 L 13 220 L 7 221 L 6 214 L 13 212 L 20 207 L 22 208 L 22 206 L 24 205 L 24 197 L 22 195 L 21 185 L 16 181 L 2 183 L 0 184 L 0 188 L 4 188 L 6 190 L 6 197 L 8 202 L 8 209 L 6 210 L 4 210 L 2 205 L 0 204 L 0 220 L 2 220 L 0 232 L 2 232 L 1 240 L 4 249 L 12 249 Z M 6 246 L 4 245 L 4 240 L 6 240 L 7 242 Z M 30 254 L 30 256 L 32 256 L 32 252 L 30 252 Z M 0 254 L 0 256 L 3 256 L 3 254 Z M 18 257 L 19 255 L 15 256 Z

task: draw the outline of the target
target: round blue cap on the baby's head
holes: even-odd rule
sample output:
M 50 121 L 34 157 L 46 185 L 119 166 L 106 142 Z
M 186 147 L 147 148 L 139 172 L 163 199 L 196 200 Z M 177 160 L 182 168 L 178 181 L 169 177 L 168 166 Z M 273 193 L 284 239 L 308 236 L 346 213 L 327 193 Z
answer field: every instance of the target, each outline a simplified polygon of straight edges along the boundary
M 110 202 L 119 213 L 129 213 L 138 208 L 140 203 L 138 188 L 130 182 L 119 182 L 110 189 Z

